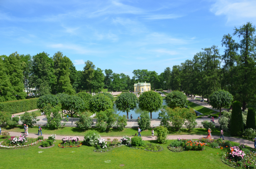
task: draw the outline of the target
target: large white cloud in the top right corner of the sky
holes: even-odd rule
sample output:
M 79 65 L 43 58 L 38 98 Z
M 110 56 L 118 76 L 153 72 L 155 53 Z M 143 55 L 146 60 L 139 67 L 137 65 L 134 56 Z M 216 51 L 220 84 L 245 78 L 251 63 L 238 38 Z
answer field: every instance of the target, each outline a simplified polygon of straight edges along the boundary
M 215 15 L 225 15 L 227 23 L 245 24 L 256 21 L 255 0 L 217 0 L 210 9 Z

